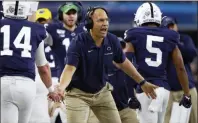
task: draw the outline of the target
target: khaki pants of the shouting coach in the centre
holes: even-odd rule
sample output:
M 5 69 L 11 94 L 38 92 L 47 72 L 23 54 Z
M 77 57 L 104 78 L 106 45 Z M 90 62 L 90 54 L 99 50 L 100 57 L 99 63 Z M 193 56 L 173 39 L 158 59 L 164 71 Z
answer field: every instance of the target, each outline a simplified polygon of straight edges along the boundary
M 113 87 L 106 86 L 96 94 L 85 93 L 73 88 L 66 93 L 67 123 L 87 123 L 90 109 L 101 123 L 121 123 L 116 104 L 111 95 Z

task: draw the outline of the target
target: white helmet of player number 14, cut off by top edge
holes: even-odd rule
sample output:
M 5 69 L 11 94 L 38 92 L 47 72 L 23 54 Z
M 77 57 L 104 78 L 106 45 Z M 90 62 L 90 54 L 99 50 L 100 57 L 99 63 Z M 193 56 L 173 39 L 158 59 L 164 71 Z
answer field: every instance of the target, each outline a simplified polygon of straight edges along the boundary
M 3 1 L 4 17 L 26 19 L 30 12 L 30 3 L 27 1 Z

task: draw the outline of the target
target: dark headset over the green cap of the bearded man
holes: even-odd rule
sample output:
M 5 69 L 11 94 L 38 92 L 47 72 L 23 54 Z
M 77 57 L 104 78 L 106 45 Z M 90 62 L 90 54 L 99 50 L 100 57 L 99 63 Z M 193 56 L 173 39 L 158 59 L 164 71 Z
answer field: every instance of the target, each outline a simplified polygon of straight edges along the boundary
M 77 11 L 77 13 L 78 13 L 77 23 L 79 23 L 82 20 L 82 18 L 83 18 L 83 6 L 82 6 L 81 2 L 66 2 L 66 3 L 60 5 L 58 7 L 58 20 L 63 21 L 63 11 L 62 11 L 62 8 L 65 5 L 68 5 L 68 4 L 73 4 L 76 7 L 78 7 L 78 11 Z

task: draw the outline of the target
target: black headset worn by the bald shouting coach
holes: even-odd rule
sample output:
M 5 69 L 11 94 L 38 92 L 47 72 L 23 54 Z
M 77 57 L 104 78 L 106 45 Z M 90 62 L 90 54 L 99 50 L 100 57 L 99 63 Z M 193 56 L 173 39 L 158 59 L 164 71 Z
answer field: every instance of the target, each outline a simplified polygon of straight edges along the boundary
M 85 17 L 85 27 L 88 30 L 93 28 L 94 23 L 93 23 L 93 20 L 92 20 L 91 16 L 94 14 L 95 10 L 97 10 L 97 9 L 102 9 L 102 10 L 104 10 L 106 12 L 107 16 L 109 15 L 107 10 L 105 8 L 103 8 L 103 7 L 100 7 L 100 6 L 93 7 L 93 8 L 89 7 L 87 9 L 87 14 L 86 14 L 86 17 Z

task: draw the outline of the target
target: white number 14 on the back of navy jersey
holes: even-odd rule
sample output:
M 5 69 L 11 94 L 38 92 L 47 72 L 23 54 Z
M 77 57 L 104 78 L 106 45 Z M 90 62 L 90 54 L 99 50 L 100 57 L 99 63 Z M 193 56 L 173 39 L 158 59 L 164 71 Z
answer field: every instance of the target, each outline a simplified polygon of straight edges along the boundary
M 3 50 L 0 51 L 1 56 L 12 56 L 13 51 L 10 49 L 10 25 L 4 25 L 1 27 L 1 33 L 3 33 Z M 21 57 L 31 58 L 31 49 L 32 46 L 30 45 L 30 35 L 31 29 L 30 27 L 23 27 L 19 34 L 16 36 L 13 44 L 16 48 L 21 48 L 23 51 L 21 52 Z M 22 39 L 24 37 L 24 42 Z

